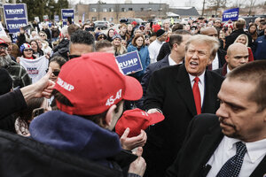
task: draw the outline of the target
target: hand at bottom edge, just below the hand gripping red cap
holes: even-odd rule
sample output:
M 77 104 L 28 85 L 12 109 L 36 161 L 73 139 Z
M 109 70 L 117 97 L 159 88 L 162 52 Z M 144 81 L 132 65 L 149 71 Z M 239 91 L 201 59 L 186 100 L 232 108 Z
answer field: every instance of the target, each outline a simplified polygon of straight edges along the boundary
M 129 173 L 135 173 L 140 176 L 143 176 L 146 170 L 146 163 L 145 159 L 141 157 L 143 149 L 141 147 L 137 148 L 135 154 L 138 158 L 132 162 L 129 166 Z

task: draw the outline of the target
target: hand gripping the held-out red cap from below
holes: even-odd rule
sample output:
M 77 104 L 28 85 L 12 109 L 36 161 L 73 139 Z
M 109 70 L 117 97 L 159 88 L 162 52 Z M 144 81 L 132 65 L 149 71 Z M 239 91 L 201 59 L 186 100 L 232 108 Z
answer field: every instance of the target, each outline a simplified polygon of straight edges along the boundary
M 133 150 L 137 147 L 143 147 L 147 141 L 147 135 L 144 130 L 141 130 L 140 135 L 129 138 L 129 127 L 121 135 L 121 147 L 124 150 Z

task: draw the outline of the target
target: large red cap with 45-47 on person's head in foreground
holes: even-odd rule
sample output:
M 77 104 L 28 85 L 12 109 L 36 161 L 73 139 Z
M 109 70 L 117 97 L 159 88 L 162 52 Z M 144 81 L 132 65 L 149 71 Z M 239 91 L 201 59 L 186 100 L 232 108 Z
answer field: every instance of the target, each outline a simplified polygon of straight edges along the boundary
M 62 112 L 96 115 L 106 112 L 122 99 L 138 100 L 143 91 L 133 77 L 123 75 L 111 53 L 93 52 L 74 58 L 62 66 L 54 89 L 73 104 L 57 101 Z

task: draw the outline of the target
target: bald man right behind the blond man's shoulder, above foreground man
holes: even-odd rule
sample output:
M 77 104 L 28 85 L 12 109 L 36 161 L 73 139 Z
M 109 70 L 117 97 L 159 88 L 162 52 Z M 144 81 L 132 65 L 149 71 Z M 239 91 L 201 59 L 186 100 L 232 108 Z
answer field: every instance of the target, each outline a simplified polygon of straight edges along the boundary
M 225 56 L 226 64 L 222 68 L 215 70 L 215 73 L 219 73 L 225 76 L 230 73 L 234 68 L 239 67 L 239 65 L 244 65 L 248 62 L 248 50 L 246 45 L 242 43 L 233 43 L 229 46 L 227 50 L 227 55 Z

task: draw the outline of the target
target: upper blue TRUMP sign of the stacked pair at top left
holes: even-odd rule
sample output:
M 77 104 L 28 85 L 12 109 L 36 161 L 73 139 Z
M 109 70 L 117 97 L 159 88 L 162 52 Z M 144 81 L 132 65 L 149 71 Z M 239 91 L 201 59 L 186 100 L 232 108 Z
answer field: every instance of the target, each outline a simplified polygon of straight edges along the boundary
M 3 4 L 5 19 L 27 19 L 26 4 Z

